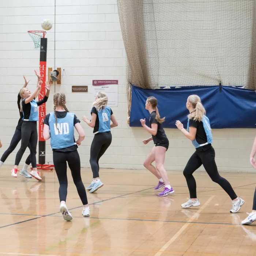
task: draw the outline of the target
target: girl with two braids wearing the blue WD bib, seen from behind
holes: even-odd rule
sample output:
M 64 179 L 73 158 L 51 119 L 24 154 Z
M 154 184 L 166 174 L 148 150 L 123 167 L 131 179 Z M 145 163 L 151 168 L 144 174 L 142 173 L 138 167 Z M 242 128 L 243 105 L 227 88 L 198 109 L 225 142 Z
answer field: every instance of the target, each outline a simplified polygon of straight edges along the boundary
M 77 151 L 85 136 L 80 120 L 74 113 L 70 113 L 65 105 L 65 94 L 55 93 L 53 104 L 54 112 L 46 115 L 44 120 L 44 139 L 51 139 L 53 164 L 60 183 L 60 212 L 63 214 L 65 221 L 71 221 L 72 215 L 66 206 L 68 193 L 67 162 L 79 197 L 83 203 L 82 214 L 83 216 L 90 216 L 86 190 L 81 178 L 80 157 Z M 74 127 L 79 134 L 79 138 L 76 141 Z

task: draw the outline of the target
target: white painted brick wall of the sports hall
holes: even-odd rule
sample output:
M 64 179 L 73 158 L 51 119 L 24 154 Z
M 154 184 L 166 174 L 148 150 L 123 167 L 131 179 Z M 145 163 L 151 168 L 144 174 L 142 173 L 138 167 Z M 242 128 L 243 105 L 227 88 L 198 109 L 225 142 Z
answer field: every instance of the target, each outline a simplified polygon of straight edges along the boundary
M 35 89 L 33 69 L 39 65 L 39 52 L 34 50 L 27 30 L 40 29 L 42 19 L 54 20 L 54 1 L 0 1 L 0 137 L 7 149 L 19 118 L 17 94 L 23 85 L 22 75 Z M 62 84 L 56 91 L 67 95 L 68 109 L 82 119 L 90 116 L 91 83 L 93 79 L 118 79 L 118 107 L 113 112 L 119 126 L 112 130 L 113 141 L 101 167 L 142 169 L 143 161 L 153 146 L 143 145 L 149 137 L 143 128 L 127 125 L 127 97 L 125 78 L 125 50 L 117 14 L 116 0 L 57 0 L 56 1 L 56 67 L 62 71 Z M 47 33 L 48 67 L 54 67 L 54 26 Z M 159 43 L 161 43 L 159 41 Z M 235 74 L 236 71 L 234 71 Z M 89 85 L 88 94 L 71 93 L 71 85 Z M 52 94 L 47 112 L 52 111 Z M 83 167 L 89 167 L 92 129 L 82 122 L 86 139 L 79 147 Z M 166 154 L 167 170 L 182 170 L 193 153 L 192 143 L 176 129 L 166 129 L 170 148 Z M 214 130 L 214 147 L 219 170 L 252 171 L 248 157 L 255 131 L 253 129 Z M 6 164 L 14 164 L 15 153 Z M 25 160 L 26 155 L 23 157 Z M 52 151 L 47 142 L 46 161 L 52 162 Z

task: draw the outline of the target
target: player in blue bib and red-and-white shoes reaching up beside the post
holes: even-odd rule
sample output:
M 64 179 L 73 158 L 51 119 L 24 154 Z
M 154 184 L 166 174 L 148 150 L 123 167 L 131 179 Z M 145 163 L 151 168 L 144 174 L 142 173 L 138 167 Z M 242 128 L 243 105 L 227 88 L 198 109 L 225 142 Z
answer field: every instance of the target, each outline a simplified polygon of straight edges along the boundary
M 32 172 L 30 175 L 37 180 L 41 181 L 42 178 L 39 176 L 37 172 L 37 160 L 36 160 L 36 153 L 37 153 L 37 121 L 38 118 L 38 106 L 44 104 L 49 97 L 50 94 L 50 86 L 48 82 L 46 83 L 46 94 L 43 99 L 40 101 L 35 101 L 35 95 L 37 95 L 41 91 L 41 75 L 39 71 L 35 71 L 35 74 L 38 78 L 37 89 L 34 93 L 30 93 L 27 88 L 22 88 L 20 90 L 20 111 L 23 112 L 23 122 L 21 127 L 21 145 L 20 149 L 16 154 L 15 158 L 15 165 L 14 168 L 11 170 L 12 177 L 17 177 L 18 172 L 18 165 L 20 160 L 26 150 L 28 144 L 30 145 L 30 161 L 32 165 Z

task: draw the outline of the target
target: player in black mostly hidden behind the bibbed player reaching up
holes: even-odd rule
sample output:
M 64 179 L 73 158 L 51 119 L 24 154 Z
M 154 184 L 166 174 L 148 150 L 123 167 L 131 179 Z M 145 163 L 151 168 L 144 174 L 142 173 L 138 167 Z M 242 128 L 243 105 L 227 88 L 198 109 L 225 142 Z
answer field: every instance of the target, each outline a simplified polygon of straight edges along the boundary
M 23 77 L 25 79 L 25 84 L 24 84 L 23 88 L 26 88 L 29 81 L 26 79 L 26 76 L 23 76 Z M 39 94 L 39 92 L 35 95 L 35 98 L 37 98 L 38 94 Z M 16 148 L 16 146 L 18 145 L 18 143 L 21 140 L 21 125 L 22 125 L 22 121 L 23 121 L 23 112 L 20 112 L 20 99 L 21 99 L 21 97 L 18 94 L 17 104 L 18 104 L 20 118 L 18 121 L 18 125 L 16 126 L 14 135 L 12 136 L 10 146 L 7 148 L 7 150 L 4 152 L 4 154 L 1 157 L 0 168 L 3 165 L 3 163 L 5 162 L 5 160 L 7 159 L 7 157 L 12 153 L 12 151 L 14 151 L 14 149 Z M 29 145 L 28 145 L 28 147 L 29 147 Z M 22 170 L 20 171 L 20 175 L 22 175 L 26 178 L 32 178 L 32 176 L 27 172 L 27 167 L 29 165 L 30 165 L 30 155 L 27 157 L 26 162 L 25 162 Z

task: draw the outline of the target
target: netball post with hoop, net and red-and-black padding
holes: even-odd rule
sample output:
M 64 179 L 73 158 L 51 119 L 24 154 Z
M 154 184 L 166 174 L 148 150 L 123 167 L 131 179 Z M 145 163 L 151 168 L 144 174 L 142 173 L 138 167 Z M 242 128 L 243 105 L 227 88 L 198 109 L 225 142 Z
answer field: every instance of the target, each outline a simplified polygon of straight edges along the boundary
M 45 96 L 45 81 L 46 81 L 46 59 L 47 59 L 47 38 L 45 38 L 46 32 L 41 30 L 29 30 L 27 33 L 30 35 L 34 42 L 35 49 L 40 49 L 39 68 L 41 74 L 41 92 L 38 95 L 38 99 L 41 100 Z M 45 164 L 45 139 L 43 135 L 44 130 L 44 118 L 46 116 L 45 103 L 39 106 L 39 143 L 38 143 L 38 170 L 52 171 L 54 165 Z

